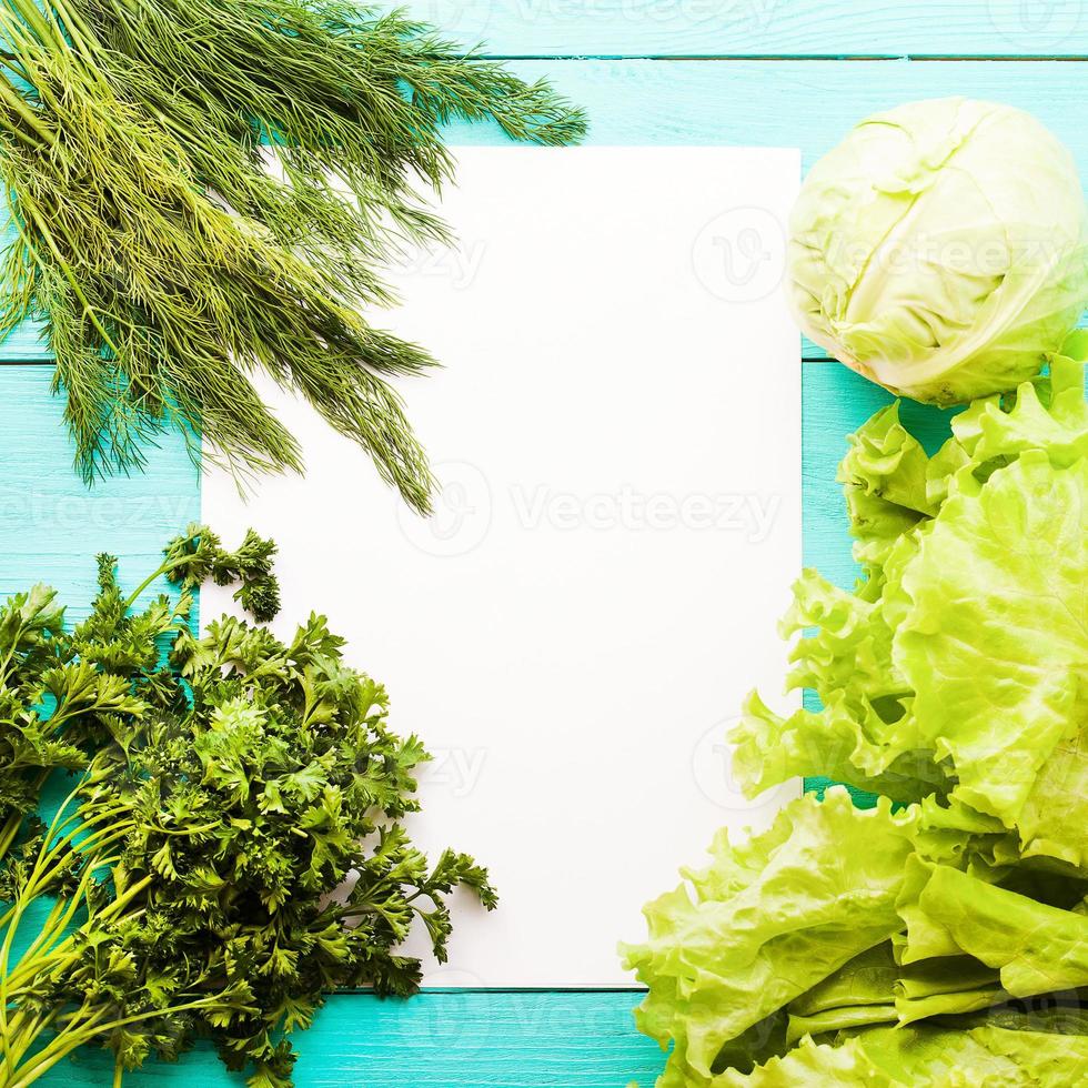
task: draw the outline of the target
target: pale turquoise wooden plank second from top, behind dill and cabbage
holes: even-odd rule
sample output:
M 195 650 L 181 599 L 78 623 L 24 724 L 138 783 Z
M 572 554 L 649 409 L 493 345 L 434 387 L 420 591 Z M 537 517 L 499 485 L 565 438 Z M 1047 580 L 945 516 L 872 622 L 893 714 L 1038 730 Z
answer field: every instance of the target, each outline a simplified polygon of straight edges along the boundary
M 1088 19 L 1088 13 L 1086 13 Z M 550 77 L 590 114 L 594 144 L 758 144 L 800 148 L 805 169 L 858 120 L 911 99 L 1000 99 L 1035 113 L 1072 150 L 1088 181 L 1088 80 L 1080 63 L 1039 61 L 516 61 Z M 495 125 L 453 124 L 454 144 L 494 144 Z M 43 359 L 37 331 L 18 330 L 3 359 Z M 807 344 L 806 357 L 826 357 Z

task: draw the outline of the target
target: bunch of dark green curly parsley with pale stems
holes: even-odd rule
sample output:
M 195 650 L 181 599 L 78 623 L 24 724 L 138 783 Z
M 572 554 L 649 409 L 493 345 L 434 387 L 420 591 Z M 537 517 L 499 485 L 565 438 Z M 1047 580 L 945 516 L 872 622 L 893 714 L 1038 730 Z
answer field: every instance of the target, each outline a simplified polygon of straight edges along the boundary
M 85 1044 L 112 1049 L 120 1082 L 209 1037 L 250 1085 L 290 1085 L 284 1036 L 324 993 L 411 994 L 421 965 L 397 947 L 413 921 L 441 960 L 446 894 L 494 907 L 472 858 L 413 847 L 401 820 L 426 753 L 390 732 L 384 688 L 323 617 L 290 643 L 231 616 L 192 634 L 209 576 L 240 576 L 240 600 L 274 612 L 273 552 L 193 527 L 155 574 L 181 584 L 175 604 L 133 614 L 141 591 L 102 556 L 72 631 L 42 587 L 0 611 L 0 1084 Z M 58 768 L 79 777 L 47 826 L 36 806 Z

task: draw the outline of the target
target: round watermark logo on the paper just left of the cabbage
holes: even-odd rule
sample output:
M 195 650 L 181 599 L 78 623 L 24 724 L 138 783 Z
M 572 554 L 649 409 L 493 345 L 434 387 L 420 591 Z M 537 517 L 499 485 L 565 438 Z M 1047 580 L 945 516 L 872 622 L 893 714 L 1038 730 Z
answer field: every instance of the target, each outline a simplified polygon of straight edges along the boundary
M 733 208 L 712 219 L 692 248 L 699 283 L 723 302 L 756 302 L 778 290 L 786 229 L 766 208 Z

